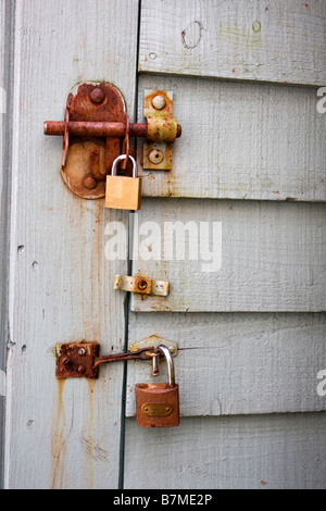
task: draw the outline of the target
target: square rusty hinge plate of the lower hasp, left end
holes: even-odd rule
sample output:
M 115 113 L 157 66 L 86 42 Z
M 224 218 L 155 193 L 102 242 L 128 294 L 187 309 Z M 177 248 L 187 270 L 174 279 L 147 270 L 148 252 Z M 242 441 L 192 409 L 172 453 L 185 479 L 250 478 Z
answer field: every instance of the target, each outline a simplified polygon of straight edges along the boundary
M 55 376 L 63 378 L 90 378 L 99 377 L 99 367 L 93 365 L 96 357 L 99 357 L 100 345 L 98 342 L 70 342 L 58 345 L 55 350 L 57 370 Z

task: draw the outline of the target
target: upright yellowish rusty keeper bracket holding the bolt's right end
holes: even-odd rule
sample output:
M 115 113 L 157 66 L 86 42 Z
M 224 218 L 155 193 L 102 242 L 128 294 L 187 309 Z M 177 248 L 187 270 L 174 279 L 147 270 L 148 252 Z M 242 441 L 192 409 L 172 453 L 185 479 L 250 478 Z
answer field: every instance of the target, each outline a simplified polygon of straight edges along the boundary
M 173 117 L 173 92 L 146 90 L 143 115 L 148 122 L 148 136 L 143 144 L 143 169 L 171 171 L 173 144 L 178 125 Z

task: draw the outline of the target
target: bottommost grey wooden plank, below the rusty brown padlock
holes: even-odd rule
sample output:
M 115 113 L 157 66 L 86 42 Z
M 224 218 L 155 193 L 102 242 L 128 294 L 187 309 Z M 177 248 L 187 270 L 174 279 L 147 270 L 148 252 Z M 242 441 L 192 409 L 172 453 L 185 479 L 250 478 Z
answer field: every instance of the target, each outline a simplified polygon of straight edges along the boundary
M 125 488 L 325 489 L 326 414 L 127 421 Z

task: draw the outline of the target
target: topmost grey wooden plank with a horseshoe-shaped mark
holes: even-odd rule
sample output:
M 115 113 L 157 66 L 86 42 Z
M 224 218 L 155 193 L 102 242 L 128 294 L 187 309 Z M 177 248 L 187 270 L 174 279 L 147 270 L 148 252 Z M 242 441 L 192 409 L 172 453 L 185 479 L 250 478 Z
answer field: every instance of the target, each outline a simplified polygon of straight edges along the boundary
M 145 0 L 139 70 L 325 85 L 323 0 Z

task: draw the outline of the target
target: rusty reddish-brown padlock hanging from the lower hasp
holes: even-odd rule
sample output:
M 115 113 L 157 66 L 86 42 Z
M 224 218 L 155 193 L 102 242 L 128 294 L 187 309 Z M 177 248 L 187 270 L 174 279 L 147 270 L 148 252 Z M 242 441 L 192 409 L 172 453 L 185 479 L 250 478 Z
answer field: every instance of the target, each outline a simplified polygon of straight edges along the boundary
M 137 425 L 142 427 L 175 427 L 179 425 L 179 386 L 175 383 L 174 363 L 170 349 L 158 346 L 166 359 L 168 383 L 136 385 Z

